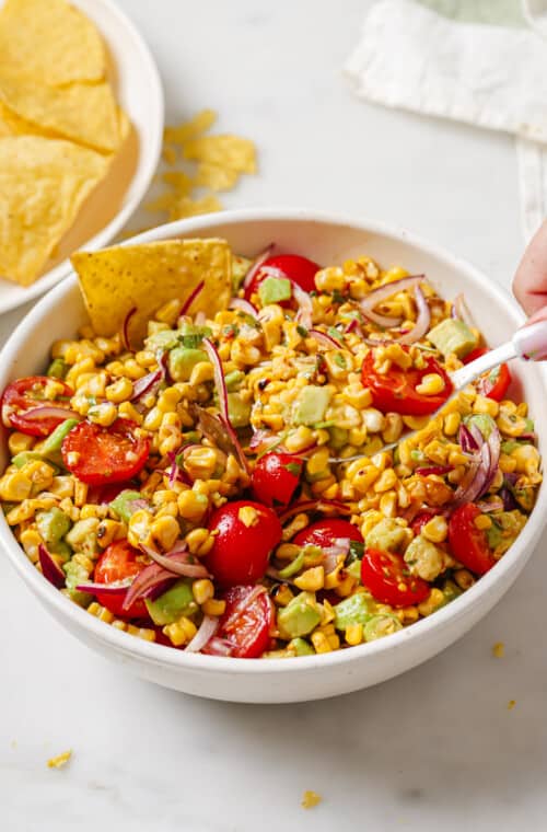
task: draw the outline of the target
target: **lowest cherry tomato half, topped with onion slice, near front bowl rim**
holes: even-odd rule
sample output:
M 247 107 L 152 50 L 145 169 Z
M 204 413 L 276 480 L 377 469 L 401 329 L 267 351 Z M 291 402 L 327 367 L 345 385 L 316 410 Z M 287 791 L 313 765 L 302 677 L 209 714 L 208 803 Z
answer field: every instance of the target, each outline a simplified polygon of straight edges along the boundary
M 255 590 L 255 587 L 232 587 L 222 596 L 226 609 L 217 636 L 231 645 L 230 655 L 236 659 L 257 659 L 269 646 L 274 604 L 266 592 L 246 604 Z M 208 652 L 207 648 L 203 652 Z

